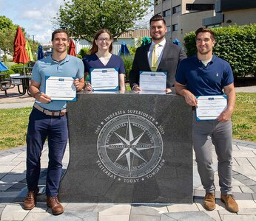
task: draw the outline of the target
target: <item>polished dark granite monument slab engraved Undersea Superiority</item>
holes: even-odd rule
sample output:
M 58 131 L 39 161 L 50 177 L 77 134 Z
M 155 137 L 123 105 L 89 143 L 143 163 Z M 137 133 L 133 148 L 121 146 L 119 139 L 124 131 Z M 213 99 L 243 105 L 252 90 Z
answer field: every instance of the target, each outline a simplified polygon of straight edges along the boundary
M 175 94 L 78 94 L 68 103 L 62 202 L 192 203 L 192 110 Z

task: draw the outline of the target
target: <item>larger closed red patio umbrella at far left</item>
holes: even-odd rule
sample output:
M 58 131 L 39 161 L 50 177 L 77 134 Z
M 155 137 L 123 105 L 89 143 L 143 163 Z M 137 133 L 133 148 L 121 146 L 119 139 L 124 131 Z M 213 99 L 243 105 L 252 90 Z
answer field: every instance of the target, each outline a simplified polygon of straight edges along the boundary
M 21 27 L 18 27 L 16 36 L 14 38 L 14 55 L 13 55 L 13 62 L 15 63 L 27 63 L 30 58 L 26 52 L 26 39 L 24 34 L 21 30 Z

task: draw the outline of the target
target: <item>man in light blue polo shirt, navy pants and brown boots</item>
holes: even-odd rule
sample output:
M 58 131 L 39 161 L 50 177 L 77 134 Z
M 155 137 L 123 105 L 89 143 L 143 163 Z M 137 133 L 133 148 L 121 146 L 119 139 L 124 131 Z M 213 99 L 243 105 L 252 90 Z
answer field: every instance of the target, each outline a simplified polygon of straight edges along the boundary
M 65 29 L 56 29 L 52 34 L 53 54 L 38 60 L 33 67 L 30 93 L 36 98 L 27 129 L 27 196 L 24 208 L 36 206 L 40 157 L 44 142 L 48 140 L 49 163 L 47 168 L 47 206 L 55 215 L 64 211 L 58 201 L 62 158 L 67 145 L 67 102 L 52 101 L 44 94 L 45 77 L 73 77 L 77 91 L 84 87 L 84 64 L 78 57 L 67 55 L 69 35 Z

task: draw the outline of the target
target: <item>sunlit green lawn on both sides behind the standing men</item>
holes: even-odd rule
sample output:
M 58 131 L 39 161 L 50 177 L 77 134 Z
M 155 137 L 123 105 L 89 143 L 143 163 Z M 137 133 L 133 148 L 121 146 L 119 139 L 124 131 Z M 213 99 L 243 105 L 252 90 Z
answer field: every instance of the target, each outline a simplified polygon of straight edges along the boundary
M 0 109 L 0 150 L 26 144 L 31 108 Z M 238 93 L 232 116 L 233 138 L 256 142 L 256 94 Z

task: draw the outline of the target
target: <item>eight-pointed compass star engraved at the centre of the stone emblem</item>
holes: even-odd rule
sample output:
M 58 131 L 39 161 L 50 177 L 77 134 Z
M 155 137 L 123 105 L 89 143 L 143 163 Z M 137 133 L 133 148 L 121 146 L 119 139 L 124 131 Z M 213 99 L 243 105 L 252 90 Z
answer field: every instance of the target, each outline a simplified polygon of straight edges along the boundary
M 118 161 L 119 159 L 123 158 L 124 156 L 127 158 L 127 165 L 129 168 L 129 173 L 131 174 L 132 170 L 132 155 L 135 155 L 138 158 L 141 158 L 141 160 L 146 161 L 146 159 L 141 155 L 140 151 L 141 150 L 149 150 L 152 148 L 160 147 L 160 146 L 152 146 L 152 144 L 138 144 L 138 142 L 141 140 L 141 137 L 144 135 L 145 131 L 138 136 L 134 137 L 133 132 L 132 132 L 132 125 L 131 122 L 128 118 L 128 125 L 127 125 L 127 130 L 129 134 L 129 139 L 124 138 L 118 133 L 115 133 L 115 136 L 118 137 L 120 143 L 117 144 L 110 144 L 110 145 L 104 145 L 101 147 L 105 147 L 108 149 L 112 150 L 119 150 L 121 151 L 120 154 L 118 155 L 118 158 L 115 159 L 115 162 Z

